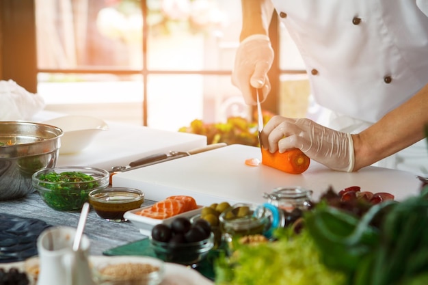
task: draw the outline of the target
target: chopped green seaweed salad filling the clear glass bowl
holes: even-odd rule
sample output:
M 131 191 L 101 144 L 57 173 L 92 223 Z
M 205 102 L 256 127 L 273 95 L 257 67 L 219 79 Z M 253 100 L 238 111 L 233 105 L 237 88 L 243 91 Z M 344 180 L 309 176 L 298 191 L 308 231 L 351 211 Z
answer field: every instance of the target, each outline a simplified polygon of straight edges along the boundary
M 82 172 L 49 172 L 38 177 L 39 185 L 51 191 L 39 191 L 46 204 L 58 211 L 79 211 L 88 201 L 88 191 L 98 187 L 98 182 Z

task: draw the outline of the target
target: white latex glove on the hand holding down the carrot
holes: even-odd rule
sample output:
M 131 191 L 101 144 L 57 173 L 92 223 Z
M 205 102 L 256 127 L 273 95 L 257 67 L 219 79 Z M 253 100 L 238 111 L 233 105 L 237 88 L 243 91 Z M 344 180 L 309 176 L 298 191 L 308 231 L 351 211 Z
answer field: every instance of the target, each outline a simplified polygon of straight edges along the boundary
M 310 159 L 331 169 L 353 170 L 353 141 L 349 133 L 334 131 L 309 119 L 275 116 L 263 128 L 263 141 L 266 136 L 270 152 L 299 148 Z

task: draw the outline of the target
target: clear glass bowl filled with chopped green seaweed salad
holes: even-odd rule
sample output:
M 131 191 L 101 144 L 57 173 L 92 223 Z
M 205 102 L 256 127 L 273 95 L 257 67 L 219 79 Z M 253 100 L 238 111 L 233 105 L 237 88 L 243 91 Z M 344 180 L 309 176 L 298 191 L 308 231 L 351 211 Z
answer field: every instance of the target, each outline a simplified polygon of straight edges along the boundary
M 88 202 L 90 191 L 109 185 L 109 172 L 96 167 L 55 167 L 32 176 L 42 200 L 57 211 L 77 212 Z

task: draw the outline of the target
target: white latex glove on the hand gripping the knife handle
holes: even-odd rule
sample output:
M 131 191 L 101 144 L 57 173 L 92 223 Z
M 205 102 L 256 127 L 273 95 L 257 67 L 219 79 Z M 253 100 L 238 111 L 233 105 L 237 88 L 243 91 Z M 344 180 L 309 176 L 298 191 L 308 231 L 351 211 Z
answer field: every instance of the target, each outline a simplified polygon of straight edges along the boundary
M 245 38 L 237 49 L 235 66 L 232 72 L 232 84 L 241 90 L 245 103 L 254 105 L 256 98 L 252 87 L 262 90 L 263 102 L 271 90 L 267 72 L 272 66 L 273 49 L 271 41 L 265 35 L 252 35 Z

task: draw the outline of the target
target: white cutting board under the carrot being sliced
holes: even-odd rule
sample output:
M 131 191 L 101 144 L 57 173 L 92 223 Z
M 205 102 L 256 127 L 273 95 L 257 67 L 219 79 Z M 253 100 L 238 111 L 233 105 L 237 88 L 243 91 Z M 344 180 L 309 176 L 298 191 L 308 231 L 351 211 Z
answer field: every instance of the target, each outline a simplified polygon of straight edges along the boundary
M 201 205 L 266 202 L 263 193 L 276 187 L 301 186 L 314 191 L 314 200 L 330 185 L 335 191 L 360 186 L 362 191 L 389 192 L 403 200 L 419 191 L 414 174 L 382 167 L 365 167 L 356 173 L 335 172 L 311 161 L 303 174 L 286 174 L 260 165 L 245 165 L 245 159 L 261 158 L 260 149 L 231 145 L 190 157 L 150 165 L 113 176 L 113 187 L 141 189 L 148 200 L 163 200 L 170 195 L 191 195 Z

